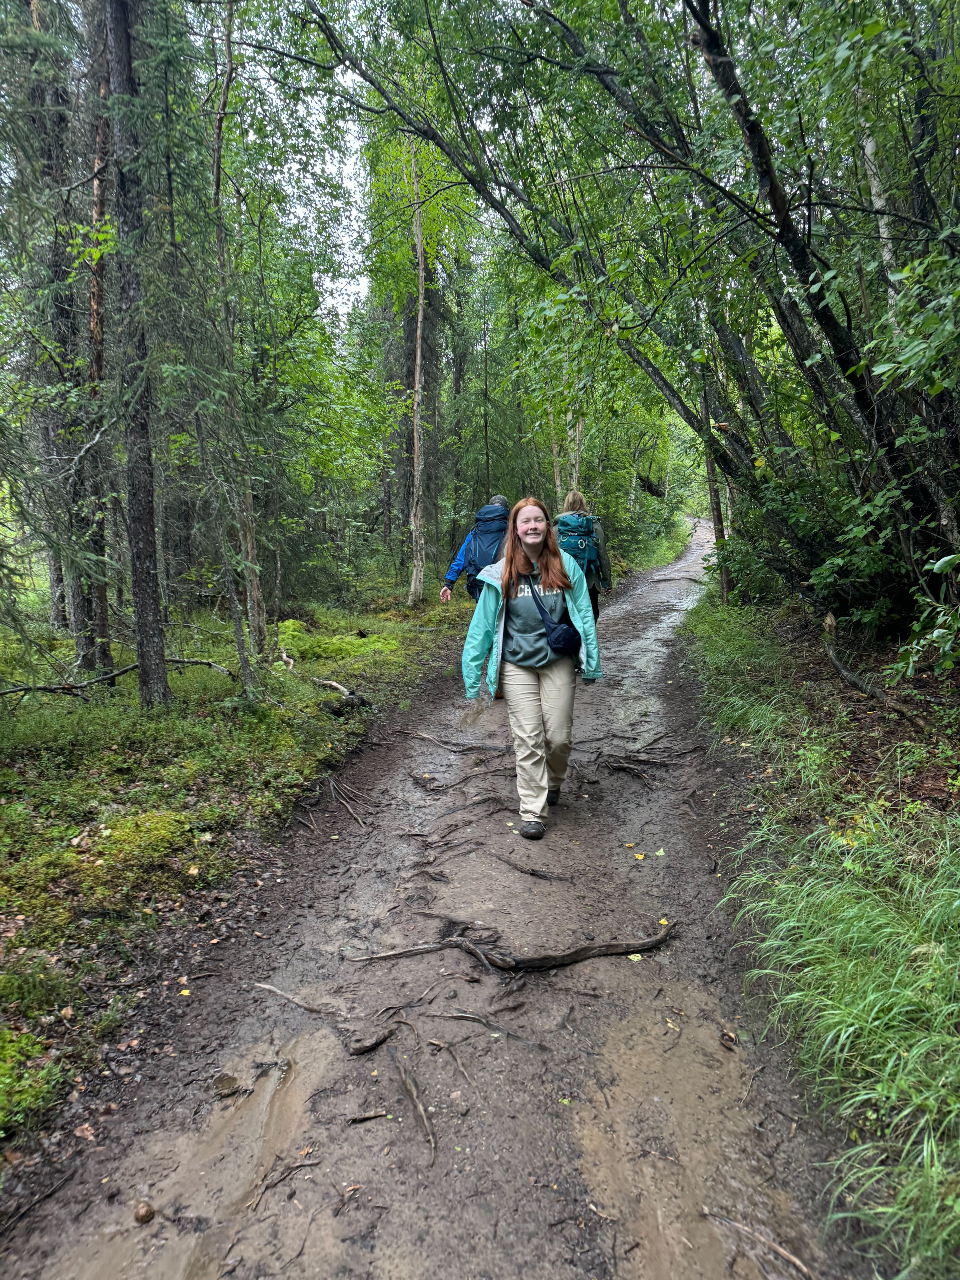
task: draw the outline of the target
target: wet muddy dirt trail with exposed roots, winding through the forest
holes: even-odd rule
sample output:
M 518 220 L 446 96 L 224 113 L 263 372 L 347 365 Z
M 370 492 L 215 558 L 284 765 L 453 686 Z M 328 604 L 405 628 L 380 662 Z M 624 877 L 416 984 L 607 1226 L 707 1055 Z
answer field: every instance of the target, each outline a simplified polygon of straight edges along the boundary
M 716 910 L 744 765 L 708 754 L 675 637 L 704 549 L 701 530 L 602 614 L 605 678 L 577 689 L 540 844 L 515 835 L 503 703 L 467 704 L 451 672 L 406 733 L 356 753 L 342 803 L 324 792 L 264 855 L 256 916 L 191 934 L 172 970 L 191 996 L 156 988 L 166 1052 L 141 1046 L 97 1149 L 8 1238 L 6 1276 L 865 1275 L 823 1243 L 826 1139 L 755 1043 Z M 630 753 L 662 763 L 608 767 Z M 512 986 L 458 950 L 356 963 L 458 932 L 561 952 L 664 920 L 657 950 Z

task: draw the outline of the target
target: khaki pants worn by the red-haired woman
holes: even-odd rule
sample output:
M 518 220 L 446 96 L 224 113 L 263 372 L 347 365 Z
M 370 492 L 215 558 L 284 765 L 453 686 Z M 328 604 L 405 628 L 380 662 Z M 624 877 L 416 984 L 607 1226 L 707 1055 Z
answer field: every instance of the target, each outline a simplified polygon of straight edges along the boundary
M 573 746 L 573 659 L 547 667 L 504 662 L 500 689 L 517 756 L 520 818 L 544 822 L 547 791 L 566 778 Z

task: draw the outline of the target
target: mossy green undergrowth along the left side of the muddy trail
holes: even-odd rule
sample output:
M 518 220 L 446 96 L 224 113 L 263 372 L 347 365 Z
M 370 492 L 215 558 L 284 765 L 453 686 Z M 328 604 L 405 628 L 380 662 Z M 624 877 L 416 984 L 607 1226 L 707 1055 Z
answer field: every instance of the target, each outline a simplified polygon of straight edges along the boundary
M 689 536 L 687 522 L 676 521 L 614 564 L 621 573 L 667 564 Z M 456 668 L 472 614 L 462 585 L 440 605 L 429 584 L 433 603 L 413 609 L 385 575 L 360 588 L 361 613 L 288 605 L 253 701 L 229 675 L 173 663 L 170 710 L 137 705 L 136 672 L 115 689 L 90 690 L 88 701 L 0 700 L 0 1139 L 8 1149 L 36 1130 L 96 1059 L 97 1041 L 120 1024 L 136 997 L 134 951 L 148 948 L 161 923 L 192 927 L 206 891 L 239 870 L 237 832 L 269 838 L 371 719 L 408 710 L 433 672 Z M 54 662 L 60 649 L 69 660 L 69 636 L 37 627 L 32 639 Z M 172 654 L 228 669 L 233 645 L 229 622 L 212 612 L 169 636 Z M 0 636 L 3 687 L 27 675 L 26 659 L 20 637 Z M 115 666 L 128 660 L 114 644 Z M 370 705 L 344 705 L 319 680 Z M 87 1016 L 84 983 L 104 982 L 116 983 L 116 996 L 106 1015 Z

